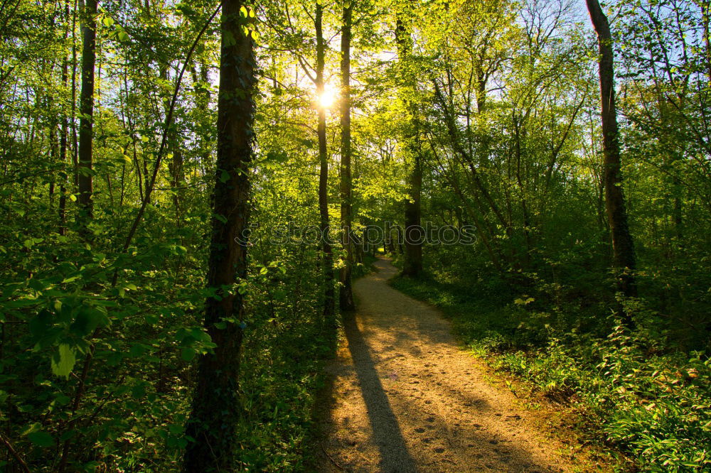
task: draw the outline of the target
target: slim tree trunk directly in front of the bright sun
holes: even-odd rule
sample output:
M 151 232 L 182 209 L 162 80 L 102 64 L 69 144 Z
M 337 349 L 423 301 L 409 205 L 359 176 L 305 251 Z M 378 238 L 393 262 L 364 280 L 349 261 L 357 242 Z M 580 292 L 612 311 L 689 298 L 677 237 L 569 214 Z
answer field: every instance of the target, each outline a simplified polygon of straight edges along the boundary
M 322 28 L 324 6 L 316 3 L 316 94 L 324 94 L 324 67 L 326 42 Z M 328 150 L 326 149 L 326 107 L 319 104 L 319 213 L 321 214 L 321 246 L 324 251 L 324 322 L 333 325 L 336 314 L 336 296 L 333 290 L 333 249 L 328 234 Z

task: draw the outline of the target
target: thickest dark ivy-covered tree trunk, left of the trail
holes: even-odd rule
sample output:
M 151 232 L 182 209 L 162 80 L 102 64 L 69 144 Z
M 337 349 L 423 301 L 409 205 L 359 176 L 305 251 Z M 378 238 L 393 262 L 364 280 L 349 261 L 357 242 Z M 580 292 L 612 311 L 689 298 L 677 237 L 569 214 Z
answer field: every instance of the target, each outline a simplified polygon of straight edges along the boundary
M 212 237 L 205 301 L 205 329 L 216 347 L 201 357 L 186 433 L 188 472 L 232 471 L 235 427 L 240 417 L 238 373 L 244 301 L 234 285 L 247 273 L 246 237 L 250 211 L 248 168 L 252 161 L 255 105 L 254 45 L 242 33 L 242 0 L 222 0 L 222 47 L 218 95 L 218 157 L 213 192 Z

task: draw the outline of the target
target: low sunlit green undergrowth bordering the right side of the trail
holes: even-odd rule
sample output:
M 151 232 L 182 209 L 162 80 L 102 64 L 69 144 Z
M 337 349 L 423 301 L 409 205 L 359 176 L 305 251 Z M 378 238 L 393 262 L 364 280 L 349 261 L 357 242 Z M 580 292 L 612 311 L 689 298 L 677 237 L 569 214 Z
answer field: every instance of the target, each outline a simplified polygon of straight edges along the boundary
M 488 364 L 582 413 L 587 440 L 602 439 L 649 471 L 711 469 L 711 361 L 670 348 L 641 302 L 627 303 L 638 327 L 629 331 L 604 301 L 543 303 L 545 291 L 517 293 L 495 278 L 464 283 L 443 271 L 392 286 L 441 308 Z

